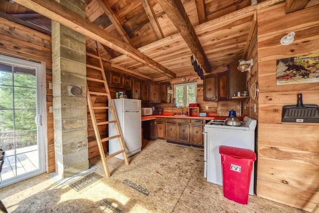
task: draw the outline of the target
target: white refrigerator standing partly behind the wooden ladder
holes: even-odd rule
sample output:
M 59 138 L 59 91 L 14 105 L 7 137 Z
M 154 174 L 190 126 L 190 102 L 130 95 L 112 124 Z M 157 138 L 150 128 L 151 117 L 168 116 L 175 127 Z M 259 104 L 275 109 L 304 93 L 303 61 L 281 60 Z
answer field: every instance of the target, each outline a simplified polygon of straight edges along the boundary
M 130 157 L 142 148 L 142 121 L 141 121 L 141 100 L 136 99 L 112 99 L 113 107 L 125 144 L 125 151 Z M 109 121 L 113 120 L 112 113 L 109 110 Z M 109 137 L 117 135 L 115 125 L 109 124 Z M 109 155 L 121 150 L 118 138 L 109 141 Z M 123 153 L 115 156 L 124 159 Z

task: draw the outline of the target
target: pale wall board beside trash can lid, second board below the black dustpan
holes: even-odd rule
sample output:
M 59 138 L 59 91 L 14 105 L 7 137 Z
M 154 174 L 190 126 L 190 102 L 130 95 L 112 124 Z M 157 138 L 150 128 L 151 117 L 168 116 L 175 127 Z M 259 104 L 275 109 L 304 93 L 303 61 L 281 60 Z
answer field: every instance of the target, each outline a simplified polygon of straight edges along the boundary
M 259 145 L 258 158 L 260 159 L 261 157 L 273 159 L 273 160 L 275 159 L 280 161 L 288 161 L 293 163 L 309 164 L 309 165 L 314 165 L 317 167 L 319 166 L 319 154 L 315 152 L 307 152 L 307 151 Z M 264 166 L 265 166 L 264 164 L 260 165 L 260 167 L 264 167 Z M 258 172 L 259 171 L 260 170 L 258 169 Z M 317 173 L 319 173 L 319 170 L 317 171 Z

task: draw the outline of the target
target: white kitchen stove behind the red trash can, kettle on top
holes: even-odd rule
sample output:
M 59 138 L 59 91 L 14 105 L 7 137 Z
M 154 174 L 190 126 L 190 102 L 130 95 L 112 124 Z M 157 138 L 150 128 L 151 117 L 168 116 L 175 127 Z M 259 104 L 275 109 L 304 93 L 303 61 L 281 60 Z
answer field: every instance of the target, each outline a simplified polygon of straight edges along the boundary
M 257 121 L 244 117 L 241 126 L 225 126 L 221 120 L 211 120 L 204 127 L 204 177 L 208 182 L 222 186 L 222 168 L 219 146 L 230 146 L 255 151 Z M 254 165 L 249 195 L 254 195 Z

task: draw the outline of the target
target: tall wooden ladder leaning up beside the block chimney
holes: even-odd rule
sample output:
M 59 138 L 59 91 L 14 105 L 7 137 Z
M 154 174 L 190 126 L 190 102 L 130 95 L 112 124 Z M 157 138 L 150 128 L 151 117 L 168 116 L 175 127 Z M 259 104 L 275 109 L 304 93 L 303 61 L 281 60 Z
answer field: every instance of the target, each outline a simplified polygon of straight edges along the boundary
M 110 171 L 107 164 L 108 159 L 123 153 L 123 157 L 124 157 L 124 161 L 126 165 L 129 165 L 129 160 L 125 152 L 123 137 L 122 137 L 121 130 L 119 128 L 119 123 L 117 121 L 117 117 L 113 107 L 112 98 L 111 98 L 109 86 L 106 80 L 106 76 L 105 76 L 105 72 L 103 68 L 103 62 L 98 50 L 97 43 L 95 43 L 95 47 L 96 47 L 97 55 L 89 53 L 89 52 L 86 53 L 87 57 L 91 57 L 93 59 L 92 61 L 94 64 L 94 65 L 91 65 L 86 63 L 87 101 L 88 101 L 94 133 L 95 133 L 96 141 L 99 147 L 99 152 L 101 155 L 101 160 L 103 163 L 105 175 L 107 177 L 110 177 L 111 175 L 110 175 Z M 106 98 L 106 101 L 105 101 L 105 98 Z M 105 117 L 105 115 L 106 117 L 108 117 L 107 116 L 108 110 L 111 110 L 113 121 L 108 121 L 108 119 L 104 121 L 103 119 L 101 120 L 101 118 Z M 103 114 L 103 115 L 99 116 L 99 114 L 100 115 Z M 106 133 L 106 131 L 108 130 L 109 124 L 115 125 L 117 135 L 101 138 L 101 133 L 102 133 L 102 136 Z M 111 155 L 105 156 L 102 143 L 105 143 L 115 138 L 119 139 L 121 150 Z

